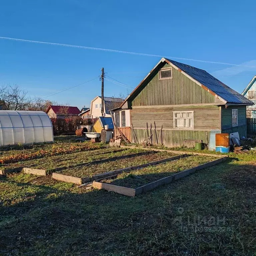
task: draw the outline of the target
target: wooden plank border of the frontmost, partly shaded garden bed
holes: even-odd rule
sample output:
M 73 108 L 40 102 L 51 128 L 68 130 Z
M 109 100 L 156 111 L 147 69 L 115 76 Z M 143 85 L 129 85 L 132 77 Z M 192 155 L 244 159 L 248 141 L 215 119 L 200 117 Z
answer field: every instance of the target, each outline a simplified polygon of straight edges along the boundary
M 101 180 L 103 180 L 103 179 L 114 178 L 118 174 L 117 175 L 112 175 L 112 176 L 109 176 L 109 177 L 106 177 L 106 178 L 101 178 L 101 179 L 98 179 L 98 180 L 94 180 L 93 181 L 93 187 L 98 188 L 98 189 L 105 189 L 105 190 L 108 190 L 108 191 L 113 191 L 113 192 L 116 192 L 116 193 L 119 193 L 119 194 L 122 194 L 122 195 L 126 195 L 126 196 L 134 197 L 136 195 L 139 195 L 139 194 L 145 193 L 147 191 L 153 190 L 153 189 L 155 189 L 159 186 L 162 186 L 164 184 L 168 184 L 168 183 L 171 183 L 175 180 L 181 179 L 185 176 L 188 176 L 191 173 L 196 172 L 197 170 L 201 170 L 203 168 L 216 165 L 216 164 L 222 162 L 223 160 L 225 160 L 226 158 L 227 158 L 227 156 L 222 156 L 221 158 L 218 158 L 214 161 L 198 165 L 196 167 L 184 170 L 182 172 L 175 173 L 171 176 L 164 177 L 162 179 L 156 180 L 154 182 L 148 183 L 146 185 L 143 185 L 143 186 L 135 188 L 135 189 L 101 182 Z

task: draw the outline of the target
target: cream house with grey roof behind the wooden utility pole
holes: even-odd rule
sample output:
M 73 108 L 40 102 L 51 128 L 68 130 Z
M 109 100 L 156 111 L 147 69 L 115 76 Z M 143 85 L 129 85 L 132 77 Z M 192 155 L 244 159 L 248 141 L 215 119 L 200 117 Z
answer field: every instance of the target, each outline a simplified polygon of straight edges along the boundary
M 104 113 L 103 116 L 111 117 L 109 110 L 120 106 L 123 99 L 114 97 L 104 97 Z M 101 96 L 95 97 L 91 101 L 90 115 L 92 118 L 98 118 L 101 114 Z

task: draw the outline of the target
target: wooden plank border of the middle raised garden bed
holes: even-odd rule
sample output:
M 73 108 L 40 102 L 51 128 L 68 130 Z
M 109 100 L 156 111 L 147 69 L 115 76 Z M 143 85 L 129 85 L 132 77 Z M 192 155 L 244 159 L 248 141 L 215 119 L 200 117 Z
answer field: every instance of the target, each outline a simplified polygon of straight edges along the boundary
M 61 180 L 61 181 L 71 182 L 71 183 L 81 185 L 83 183 L 92 182 L 92 181 L 98 180 L 98 179 L 103 179 L 103 178 L 109 177 L 111 175 L 117 175 L 117 174 L 120 174 L 123 172 L 129 172 L 129 171 L 141 169 L 141 168 L 144 168 L 144 167 L 147 167 L 150 165 L 157 165 L 160 163 L 173 161 L 173 160 L 184 158 L 187 156 L 188 156 L 188 154 L 177 155 L 177 156 L 157 160 L 157 161 L 146 163 L 146 164 L 130 166 L 130 167 L 126 167 L 126 168 L 122 168 L 122 169 L 118 169 L 118 170 L 114 170 L 114 171 L 109 171 L 109 172 L 105 172 L 105 173 L 100 173 L 100 174 L 93 175 L 91 177 L 84 177 L 84 178 L 78 178 L 78 177 L 74 177 L 74 176 L 70 176 L 70 175 L 64 175 L 64 174 L 59 174 L 59 173 L 53 172 L 52 178 L 56 179 L 56 180 Z

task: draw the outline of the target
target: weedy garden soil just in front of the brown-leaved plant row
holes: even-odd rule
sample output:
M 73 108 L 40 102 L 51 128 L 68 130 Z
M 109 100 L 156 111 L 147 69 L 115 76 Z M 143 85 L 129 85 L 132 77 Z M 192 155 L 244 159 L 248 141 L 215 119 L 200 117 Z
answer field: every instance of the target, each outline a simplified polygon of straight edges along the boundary
M 1 169 L 12 169 L 17 167 L 29 167 L 34 169 L 53 170 L 56 168 L 68 167 L 81 163 L 90 163 L 95 160 L 123 156 L 149 151 L 148 149 L 117 149 L 103 148 L 92 151 L 82 151 L 65 155 L 43 157 L 2 165 Z

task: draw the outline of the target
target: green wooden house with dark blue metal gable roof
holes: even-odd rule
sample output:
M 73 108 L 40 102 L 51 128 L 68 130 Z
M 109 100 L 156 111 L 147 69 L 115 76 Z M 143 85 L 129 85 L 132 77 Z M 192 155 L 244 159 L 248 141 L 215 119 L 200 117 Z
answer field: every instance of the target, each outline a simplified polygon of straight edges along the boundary
M 246 106 L 251 105 L 251 100 L 205 70 L 162 58 L 115 115 L 130 110 L 132 142 L 152 134 L 151 142 L 157 143 L 162 127 L 161 144 L 181 146 L 184 140 L 208 144 L 216 131 L 246 136 Z

